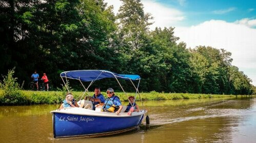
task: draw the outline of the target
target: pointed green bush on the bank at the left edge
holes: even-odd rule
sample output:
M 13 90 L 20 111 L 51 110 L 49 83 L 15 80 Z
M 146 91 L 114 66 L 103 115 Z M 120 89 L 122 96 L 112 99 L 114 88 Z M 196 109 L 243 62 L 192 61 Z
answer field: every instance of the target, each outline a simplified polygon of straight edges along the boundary
M 21 105 L 26 104 L 26 97 L 22 95 L 19 84 L 16 82 L 17 78 L 13 78 L 14 69 L 8 70 L 7 76 L 3 76 L 3 83 L 0 82 L 0 87 L 3 90 L 3 97 L 1 104 L 3 105 Z

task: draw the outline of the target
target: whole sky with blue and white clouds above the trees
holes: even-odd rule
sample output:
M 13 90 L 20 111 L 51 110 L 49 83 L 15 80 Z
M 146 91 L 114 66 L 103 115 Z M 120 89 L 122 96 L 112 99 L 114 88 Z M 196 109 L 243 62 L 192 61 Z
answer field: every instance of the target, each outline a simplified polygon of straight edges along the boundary
M 117 14 L 122 2 L 105 0 Z M 178 42 L 225 49 L 256 86 L 256 1 L 252 0 L 142 0 L 154 23 L 149 28 L 175 27 Z

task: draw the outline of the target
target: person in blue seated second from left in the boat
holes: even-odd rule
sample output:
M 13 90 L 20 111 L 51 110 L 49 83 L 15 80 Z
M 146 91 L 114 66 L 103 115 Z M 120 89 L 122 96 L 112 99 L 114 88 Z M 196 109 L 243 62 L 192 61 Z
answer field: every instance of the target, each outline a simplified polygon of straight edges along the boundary
M 89 99 L 92 102 L 93 110 L 95 110 L 95 107 L 103 106 L 105 103 L 105 98 L 104 98 L 103 94 L 101 93 L 100 87 L 95 87 L 93 96 L 86 97 L 85 100 L 87 100 L 87 99 Z M 85 100 L 81 101 L 80 108 L 84 107 Z

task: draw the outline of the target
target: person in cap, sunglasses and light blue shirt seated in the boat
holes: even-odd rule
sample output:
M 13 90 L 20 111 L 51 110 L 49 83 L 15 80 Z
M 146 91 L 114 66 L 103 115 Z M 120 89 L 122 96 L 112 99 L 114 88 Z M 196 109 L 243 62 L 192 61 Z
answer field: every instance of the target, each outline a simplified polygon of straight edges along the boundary
M 105 104 L 103 106 L 103 112 L 115 112 L 117 115 L 122 110 L 123 106 L 119 97 L 115 96 L 114 89 L 108 88 L 107 89 L 107 96 L 108 98 L 105 100 Z

